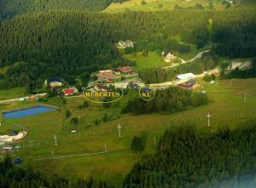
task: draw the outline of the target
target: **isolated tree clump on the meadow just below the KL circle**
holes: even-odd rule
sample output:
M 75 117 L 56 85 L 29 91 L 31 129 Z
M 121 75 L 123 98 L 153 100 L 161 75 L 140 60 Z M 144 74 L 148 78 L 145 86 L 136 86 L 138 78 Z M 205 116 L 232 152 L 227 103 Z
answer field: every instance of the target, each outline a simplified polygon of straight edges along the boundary
M 129 100 L 122 113 L 131 112 L 132 115 L 148 114 L 153 112 L 173 113 L 184 111 L 189 106 L 205 105 L 208 102 L 207 94 L 193 93 L 183 88 L 166 88 L 157 90 L 154 100 L 145 101 L 137 97 Z

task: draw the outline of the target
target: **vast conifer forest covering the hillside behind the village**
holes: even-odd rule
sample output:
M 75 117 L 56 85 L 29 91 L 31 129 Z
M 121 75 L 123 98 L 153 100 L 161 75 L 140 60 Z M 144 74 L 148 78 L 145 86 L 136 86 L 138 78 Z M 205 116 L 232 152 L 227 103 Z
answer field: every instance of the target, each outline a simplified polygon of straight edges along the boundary
M 83 74 L 124 64 L 115 48 L 120 39 L 137 42 L 137 50 L 161 52 L 166 48 L 177 48 L 181 53 L 189 50 L 185 45 L 170 45 L 168 41 L 173 41 L 172 37 L 178 34 L 185 43 L 194 43 L 198 48 L 211 41 L 217 43 L 213 48 L 217 56 L 253 57 L 256 55 L 255 26 L 256 11 L 253 8 L 218 12 L 177 10 L 172 14 L 168 11 L 22 14 L 0 23 L 0 67 L 17 69 L 16 62 L 25 62 L 18 65 L 26 70 L 25 77 L 30 80 L 31 88 L 37 88 L 49 77 L 59 76 L 70 81 L 83 77 Z M 229 50 L 226 53 L 219 51 L 222 47 Z M 41 70 L 36 77 L 30 71 L 31 64 L 33 69 Z M 44 65 L 49 68 L 45 69 Z M 3 74 L 0 79 L 2 88 L 6 88 L 3 87 L 6 83 L 24 83 L 14 74 Z M 16 85 L 9 84 L 8 88 Z

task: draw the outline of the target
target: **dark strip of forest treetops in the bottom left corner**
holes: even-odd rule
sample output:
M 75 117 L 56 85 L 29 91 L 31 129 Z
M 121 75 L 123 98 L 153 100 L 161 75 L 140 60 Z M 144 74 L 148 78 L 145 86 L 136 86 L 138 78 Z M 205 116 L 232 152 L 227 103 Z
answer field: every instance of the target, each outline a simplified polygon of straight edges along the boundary
M 32 167 L 17 168 L 13 164 L 10 156 L 5 156 L 3 162 L 0 162 L 0 186 L 4 188 L 113 188 L 102 180 L 95 179 L 77 179 L 71 182 L 55 174 L 52 177 L 46 177 L 33 170 Z

